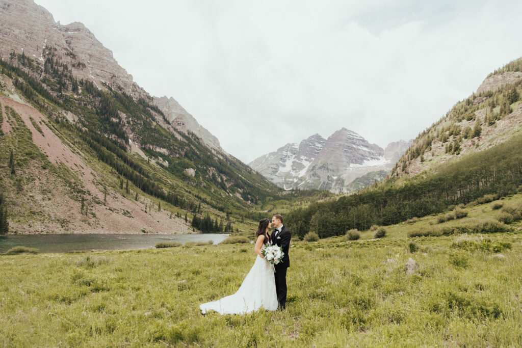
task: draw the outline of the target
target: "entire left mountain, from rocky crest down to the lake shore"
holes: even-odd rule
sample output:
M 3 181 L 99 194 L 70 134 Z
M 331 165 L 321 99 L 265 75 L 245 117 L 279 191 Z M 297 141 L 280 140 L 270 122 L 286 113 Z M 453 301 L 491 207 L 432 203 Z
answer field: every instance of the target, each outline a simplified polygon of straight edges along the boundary
M 3 1 L 0 18 L 11 230 L 230 232 L 284 194 L 173 98 L 151 97 L 81 23 L 62 26 L 29 0 Z

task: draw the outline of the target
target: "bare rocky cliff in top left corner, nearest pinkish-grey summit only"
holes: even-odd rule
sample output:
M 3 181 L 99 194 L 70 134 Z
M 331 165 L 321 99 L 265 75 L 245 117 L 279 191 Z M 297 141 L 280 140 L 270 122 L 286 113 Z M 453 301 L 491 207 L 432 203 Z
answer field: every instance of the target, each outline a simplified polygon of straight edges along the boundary
M 78 79 L 92 80 L 98 87 L 103 83 L 121 86 L 127 93 L 144 97 L 131 75 L 122 68 L 94 34 L 82 23 L 63 26 L 54 21 L 48 10 L 32 0 L 9 0 L 0 5 L 0 55 L 11 52 L 25 54 L 43 65 L 44 50 L 56 50 L 56 56 L 66 63 Z

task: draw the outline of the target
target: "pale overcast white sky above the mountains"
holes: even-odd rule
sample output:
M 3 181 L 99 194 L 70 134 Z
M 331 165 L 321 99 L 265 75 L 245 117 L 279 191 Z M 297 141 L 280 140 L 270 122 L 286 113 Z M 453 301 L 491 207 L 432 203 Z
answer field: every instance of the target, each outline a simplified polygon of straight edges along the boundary
M 248 163 L 346 127 L 411 139 L 522 56 L 520 1 L 35 0 Z

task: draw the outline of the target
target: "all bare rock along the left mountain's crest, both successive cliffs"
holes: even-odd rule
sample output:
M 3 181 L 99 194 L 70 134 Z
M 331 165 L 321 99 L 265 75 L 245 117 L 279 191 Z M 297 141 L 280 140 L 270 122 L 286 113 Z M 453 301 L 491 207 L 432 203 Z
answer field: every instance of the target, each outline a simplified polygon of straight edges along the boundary
M 104 84 L 118 90 L 121 88 L 135 99 L 150 100 L 150 95 L 133 81 L 132 75 L 118 65 L 112 51 L 104 47 L 82 23 L 61 25 L 54 21 L 48 10 L 32 0 L 0 2 L 0 19 L 0 56 L 4 60 L 16 61 L 11 56 L 23 53 L 41 66 L 43 72 L 45 52 L 52 50 L 78 80 L 91 80 L 101 89 L 105 89 Z M 42 76 L 38 74 L 34 77 Z M 173 98 L 155 97 L 153 102 L 164 111 L 174 128 L 185 134 L 190 131 L 211 149 L 225 153 L 218 139 L 199 125 Z

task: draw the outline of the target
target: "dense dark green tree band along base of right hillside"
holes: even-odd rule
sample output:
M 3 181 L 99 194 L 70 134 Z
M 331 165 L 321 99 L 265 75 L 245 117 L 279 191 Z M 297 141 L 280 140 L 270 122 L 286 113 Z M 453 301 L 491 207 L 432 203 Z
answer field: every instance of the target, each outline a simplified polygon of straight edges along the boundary
M 514 194 L 522 189 L 521 149 L 522 136 L 517 136 L 445 163 L 429 177 L 414 177 L 402 185 L 391 179 L 375 189 L 291 211 L 286 223 L 299 237 L 309 231 L 328 237 L 440 213 L 449 205 L 466 204 L 487 194 Z

